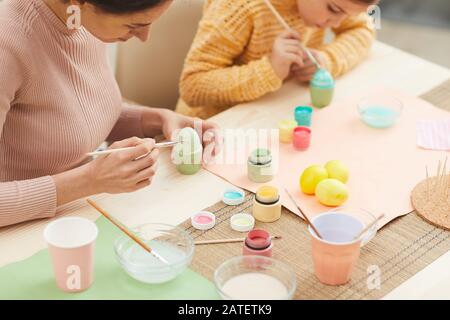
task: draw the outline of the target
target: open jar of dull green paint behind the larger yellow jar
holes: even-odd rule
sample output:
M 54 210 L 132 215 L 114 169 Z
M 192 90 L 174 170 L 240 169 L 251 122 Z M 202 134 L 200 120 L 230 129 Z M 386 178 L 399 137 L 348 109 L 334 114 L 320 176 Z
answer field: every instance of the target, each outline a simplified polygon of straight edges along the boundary
M 247 161 L 248 178 L 257 183 L 269 182 L 274 177 L 273 171 L 270 150 L 264 148 L 253 150 Z

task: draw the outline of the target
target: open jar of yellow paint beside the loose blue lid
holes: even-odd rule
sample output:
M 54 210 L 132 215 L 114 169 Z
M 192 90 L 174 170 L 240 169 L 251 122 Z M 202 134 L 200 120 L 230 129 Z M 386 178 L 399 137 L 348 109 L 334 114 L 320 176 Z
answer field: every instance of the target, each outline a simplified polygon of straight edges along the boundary
M 253 216 L 261 222 L 274 222 L 281 218 L 281 201 L 278 189 L 262 186 L 253 199 Z

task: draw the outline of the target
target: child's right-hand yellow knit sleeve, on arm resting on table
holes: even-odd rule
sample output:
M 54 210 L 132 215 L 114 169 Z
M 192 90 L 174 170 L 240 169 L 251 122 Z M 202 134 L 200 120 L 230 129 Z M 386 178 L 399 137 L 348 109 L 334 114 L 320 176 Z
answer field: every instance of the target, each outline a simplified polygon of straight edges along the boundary
M 334 77 L 351 70 L 368 55 L 376 36 L 375 30 L 368 25 L 368 19 L 366 13 L 348 17 L 333 29 L 334 41 L 319 48 Z

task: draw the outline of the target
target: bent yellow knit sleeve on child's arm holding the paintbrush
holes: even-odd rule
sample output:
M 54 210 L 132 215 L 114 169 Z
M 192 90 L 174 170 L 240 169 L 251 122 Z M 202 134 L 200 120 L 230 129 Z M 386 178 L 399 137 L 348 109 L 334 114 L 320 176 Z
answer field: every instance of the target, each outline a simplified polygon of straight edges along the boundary
M 228 107 L 279 89 L 282 80 L 267 56 L 236 65 L 253 31 L 245 2 L 213 2 L 204 12 L 180 80 L 191 107 Z

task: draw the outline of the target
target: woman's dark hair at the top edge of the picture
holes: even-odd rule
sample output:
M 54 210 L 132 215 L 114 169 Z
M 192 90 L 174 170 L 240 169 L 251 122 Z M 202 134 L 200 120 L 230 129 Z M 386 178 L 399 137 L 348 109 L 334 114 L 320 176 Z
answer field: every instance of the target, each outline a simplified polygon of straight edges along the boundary
M 135 13 L 156 7 L 168 0 L 80 0 L 88 2 L 107 13 Z

